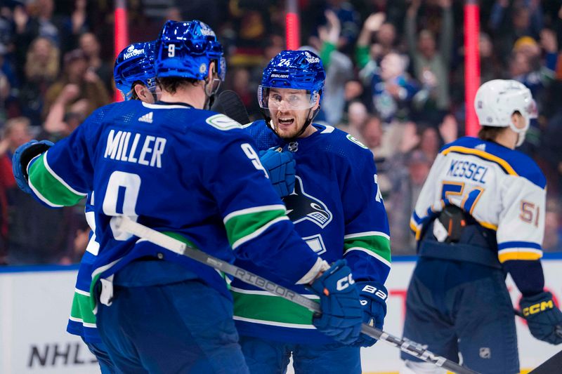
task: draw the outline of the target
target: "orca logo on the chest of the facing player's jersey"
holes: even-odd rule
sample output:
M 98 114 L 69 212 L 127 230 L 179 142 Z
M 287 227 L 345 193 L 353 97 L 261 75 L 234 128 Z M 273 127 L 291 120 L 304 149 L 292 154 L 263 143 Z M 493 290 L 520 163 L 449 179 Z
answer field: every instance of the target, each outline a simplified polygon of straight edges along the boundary
M 295 175 L 295 179 L 293 193 L 283 198 L 289 220 L 294 224 L 309 220 L 323 229 L 332 221 L 332 212 L 325 203 L 304 192 L 299 175 Z

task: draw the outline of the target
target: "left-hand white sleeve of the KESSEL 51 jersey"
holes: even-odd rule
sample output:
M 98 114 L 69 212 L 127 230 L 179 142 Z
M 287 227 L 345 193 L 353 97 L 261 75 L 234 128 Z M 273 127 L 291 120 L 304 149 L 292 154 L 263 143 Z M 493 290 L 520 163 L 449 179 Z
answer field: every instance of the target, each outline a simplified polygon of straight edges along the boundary
M 420 239 L 421 227 L 424 223 L 431 220 L 431 218 L 443 208 L 440 196 L 436 194 L 436 187 L 434 184 L 439 180 L 437 176 L 444 162 L 445 156 L 443 156 L 443 154 L 438 154 L 436 161 L 433 162 L 433 166 L 431 166 L 431 170 L 427 175 L 426 182 L 419 192 L 414 212 L 410 218 L 410 229 L 416 235 L 416 240 Z

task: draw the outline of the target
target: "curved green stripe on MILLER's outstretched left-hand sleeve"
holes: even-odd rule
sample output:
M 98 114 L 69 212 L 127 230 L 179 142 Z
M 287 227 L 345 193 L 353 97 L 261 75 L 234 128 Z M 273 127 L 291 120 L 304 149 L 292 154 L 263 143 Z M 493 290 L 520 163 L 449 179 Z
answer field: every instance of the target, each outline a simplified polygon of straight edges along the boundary
M 30 187 L 39 199 L 51 206 L 73 206 L 84 199 L 85 194 L 72 191 L 52 173 L 45 157 L 46 153 L 39 156 L 30 168 Z

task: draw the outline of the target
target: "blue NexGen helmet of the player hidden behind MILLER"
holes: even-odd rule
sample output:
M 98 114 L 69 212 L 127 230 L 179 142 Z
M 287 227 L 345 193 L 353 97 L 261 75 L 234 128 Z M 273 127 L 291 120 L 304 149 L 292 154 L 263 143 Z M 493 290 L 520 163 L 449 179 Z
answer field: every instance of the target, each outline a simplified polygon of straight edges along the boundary
M 115 60 L 113 79 L 125 100 L 133 96 L 133 84 L 141 81 L 152 93 L 156 90 L 155 42 L 131 44 Z

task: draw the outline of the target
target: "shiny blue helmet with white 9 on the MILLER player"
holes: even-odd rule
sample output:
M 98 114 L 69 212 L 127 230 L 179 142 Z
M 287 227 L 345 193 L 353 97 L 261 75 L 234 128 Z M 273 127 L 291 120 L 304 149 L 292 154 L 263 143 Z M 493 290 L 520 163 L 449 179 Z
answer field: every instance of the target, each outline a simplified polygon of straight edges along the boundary
M 218 77 L 224 81 L 223 47 L 204 22 L 166 22 L 156 41 L 156 51 L 159 78 L 176 76 L 204 81 L 209 74 L 209 65 L 215 61 Z

